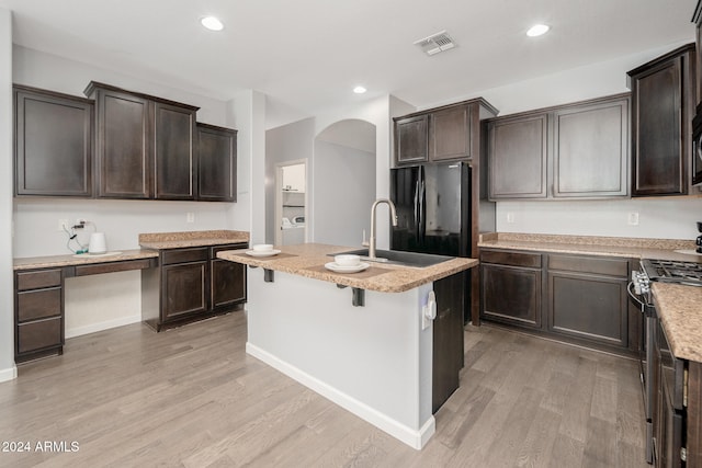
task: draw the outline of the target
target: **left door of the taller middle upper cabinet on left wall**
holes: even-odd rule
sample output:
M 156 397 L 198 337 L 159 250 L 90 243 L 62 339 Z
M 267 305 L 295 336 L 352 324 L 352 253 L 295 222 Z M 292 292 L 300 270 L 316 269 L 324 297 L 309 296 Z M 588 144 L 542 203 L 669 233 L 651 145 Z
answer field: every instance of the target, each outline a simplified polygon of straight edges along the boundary
M 98 90 L 98 196 L 149 198 L 154 152 L 151 103 L 112 90 Z

